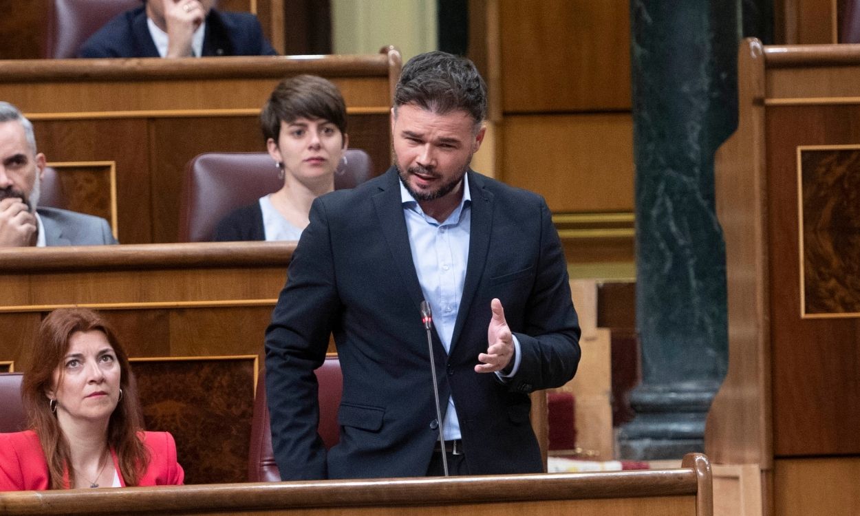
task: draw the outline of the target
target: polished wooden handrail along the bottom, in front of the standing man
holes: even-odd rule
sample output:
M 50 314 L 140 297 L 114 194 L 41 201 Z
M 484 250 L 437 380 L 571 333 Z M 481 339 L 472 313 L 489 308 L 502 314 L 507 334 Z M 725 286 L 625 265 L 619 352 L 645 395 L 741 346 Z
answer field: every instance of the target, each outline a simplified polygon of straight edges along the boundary
M 391 507 L 512 501 L 594 500 L 701 495 L 701 454 L 678 470 L 210 484 L 0 493 L 0 513 L 207 513 L 322 507 Z M 704 464 L 704 468 L 701 467 Z M 706 502 L 712 503 L 710 492 Z M 704 507 L 706 516 L 710 514 Z M 701 509 L 699 511 L 701 513 Z

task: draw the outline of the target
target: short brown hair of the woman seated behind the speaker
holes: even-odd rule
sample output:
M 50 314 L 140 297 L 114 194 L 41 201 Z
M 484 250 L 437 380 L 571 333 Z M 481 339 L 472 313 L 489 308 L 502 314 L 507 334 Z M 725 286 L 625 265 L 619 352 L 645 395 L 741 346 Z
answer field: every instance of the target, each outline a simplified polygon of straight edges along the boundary
M 328 120 L 347 134 L 347 104 L 341 90 L 322 77 L 300 75 L 275 86 L 260 113 L 263 138 L 278 143 L 281 120 L 289 124 L 299 118 Z

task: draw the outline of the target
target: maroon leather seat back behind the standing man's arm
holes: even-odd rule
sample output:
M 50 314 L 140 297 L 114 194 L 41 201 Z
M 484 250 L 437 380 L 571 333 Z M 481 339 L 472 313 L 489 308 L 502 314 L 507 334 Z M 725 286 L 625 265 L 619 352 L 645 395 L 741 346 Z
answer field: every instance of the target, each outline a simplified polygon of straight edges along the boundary
M 336 445 L 341 439 L 341 426 L 337 422 L 337 411 L 341 406 L 343 376 L 341 362 L 337 357 L 327 357 L 316 370 L 319 383 L 320 422 L 317 431 L 326 449 Z M 254 399 L 254 421 L 251 424 L 251 445 L 248 458 L 249 482 L 279 482 L 278 464 L 274 462 L 272 451 L 272 431 L 269 426 L 266 402 L 266 382 L 257 382 Z

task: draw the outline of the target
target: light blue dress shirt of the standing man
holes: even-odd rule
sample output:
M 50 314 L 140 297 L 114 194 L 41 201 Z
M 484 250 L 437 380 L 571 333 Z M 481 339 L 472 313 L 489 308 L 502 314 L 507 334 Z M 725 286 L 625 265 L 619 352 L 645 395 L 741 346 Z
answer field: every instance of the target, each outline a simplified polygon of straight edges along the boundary
M 463 199 L 442 223 L 421 210 L 421 206 L 412 194 L 409 194 L 402 181 L 400 199 L 421 292 L 424 294 L 424 300 L 430 304 L 430 310 L 433 310 L 433 326 L 439 335 L 439 341 L 442 341 L 445 353 L 450 355 L 451 337 L 460 310 L 460 300 L 463 298 L 466 265 L 469 261 L 472 219 L 469 181 L 464 178 Z M 499 378 L 510 378 L 519 368 L 519 341 L 516 337 L 513 341 L 516 347 L 513 370 L 507 375 L 496 373 Z M 453 397 L 448 399 L 443 435 L 445 440 L 461 438 Z

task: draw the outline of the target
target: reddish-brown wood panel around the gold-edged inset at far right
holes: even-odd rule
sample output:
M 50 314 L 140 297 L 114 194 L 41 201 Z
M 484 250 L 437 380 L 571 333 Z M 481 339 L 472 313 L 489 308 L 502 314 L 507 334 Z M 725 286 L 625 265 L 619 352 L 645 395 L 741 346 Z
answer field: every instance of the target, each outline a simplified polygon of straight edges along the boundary
M 860 319 L 802 319 L 796 147 L 860 141 L 860 106 L 767 109 L 774 446 L 860 453 Z

